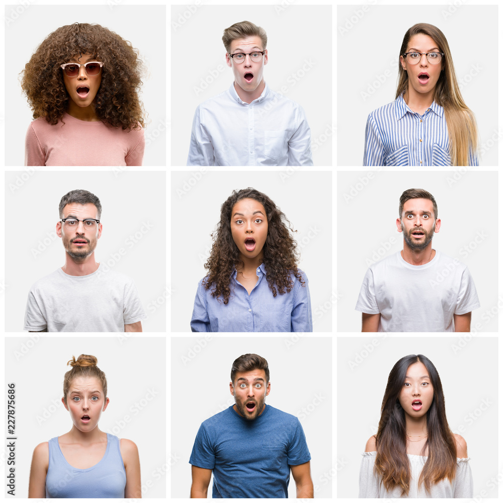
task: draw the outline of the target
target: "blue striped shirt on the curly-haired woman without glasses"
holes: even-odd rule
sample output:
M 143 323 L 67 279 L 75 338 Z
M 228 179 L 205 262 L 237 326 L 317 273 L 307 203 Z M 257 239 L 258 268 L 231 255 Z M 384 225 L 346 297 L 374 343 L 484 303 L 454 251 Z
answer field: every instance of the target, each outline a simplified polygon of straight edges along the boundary
M 211 288 L 203 280 L 197 286 L 194 310 L 190 323 L 193 332 L 312 332 L 311 298 L 306 275 L 305 286 L 292 275 L 290 292 L 273 297 L 266 278 L 264 264 L 257 268 L 259 281 L 248 295 L 246 288 L 236 279 L 230 280 L 227 304 L 221 297 L 211 295 Z M 204 278 L 203 278 L 204 279 Z

